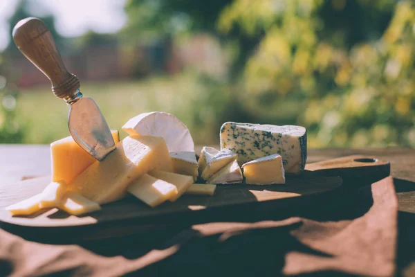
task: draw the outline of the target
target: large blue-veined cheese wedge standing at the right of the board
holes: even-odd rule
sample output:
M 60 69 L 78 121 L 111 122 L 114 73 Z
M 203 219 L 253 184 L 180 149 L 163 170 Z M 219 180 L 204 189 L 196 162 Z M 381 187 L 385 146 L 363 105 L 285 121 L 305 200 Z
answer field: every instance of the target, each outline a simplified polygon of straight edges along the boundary
M 250 123 L 223 123 L 221 150 L 238 155 L 239 165 L 272 154 L 280 154 L 287 173 L 304 170 L 307 159 L 306 128 L 295 125 L 259 125 Z

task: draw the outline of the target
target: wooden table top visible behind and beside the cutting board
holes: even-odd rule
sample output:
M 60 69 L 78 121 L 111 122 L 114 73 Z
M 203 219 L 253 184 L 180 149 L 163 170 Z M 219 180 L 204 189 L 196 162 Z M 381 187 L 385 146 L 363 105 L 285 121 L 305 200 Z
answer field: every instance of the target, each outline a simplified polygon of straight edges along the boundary
M 312 163 L 353 154 L 375 156 L 391 163 L 399 202 L 397 264 L 401 274 L 415 276 L 415 149 L 308 150 L 307 161 Z M 48 145 L 0 145 L 0 186 L 22 177 L 42 175 L 50 175 Z

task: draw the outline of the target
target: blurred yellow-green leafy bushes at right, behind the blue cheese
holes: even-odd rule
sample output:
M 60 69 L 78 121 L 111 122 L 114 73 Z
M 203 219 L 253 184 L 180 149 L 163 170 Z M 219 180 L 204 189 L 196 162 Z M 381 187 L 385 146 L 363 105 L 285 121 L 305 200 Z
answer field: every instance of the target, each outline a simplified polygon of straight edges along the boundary
M 415 146 L 413 1 L 212 1 L 201 14 L 210 2 L 127 4 L 130 30 L 181 12 L 187 30 L 213 33 L 234 53 L 228 82 L 210 82 L 194 103 L 201 125 L 296 123 L 311 147 Z M 281 117 L 276 110 L 291 103 Z

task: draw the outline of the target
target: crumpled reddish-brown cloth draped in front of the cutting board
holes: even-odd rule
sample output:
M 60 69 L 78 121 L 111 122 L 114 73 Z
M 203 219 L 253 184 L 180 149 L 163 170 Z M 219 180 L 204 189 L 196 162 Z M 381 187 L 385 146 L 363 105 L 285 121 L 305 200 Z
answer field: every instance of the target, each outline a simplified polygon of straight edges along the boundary
M 371 193 L 373 206 L 356 220 L 195 225 L 132 260 L 0 230 L 0 276 L 393 276 L 398 202 L 391 177 L 372 184 Z

